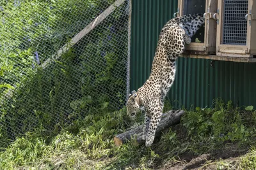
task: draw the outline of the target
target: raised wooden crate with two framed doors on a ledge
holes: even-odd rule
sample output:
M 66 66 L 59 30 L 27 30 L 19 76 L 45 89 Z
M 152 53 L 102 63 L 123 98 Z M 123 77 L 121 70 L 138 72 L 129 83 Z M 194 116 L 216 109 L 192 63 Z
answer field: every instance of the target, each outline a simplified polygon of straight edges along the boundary
M 184 56 L 237 62 L 256 61 L 256 1 L 178 2 L 177 16 L 204 12 L 205 17 L 204 41 L 195 42 L 195 35 L 191 44 L 186 46 Z

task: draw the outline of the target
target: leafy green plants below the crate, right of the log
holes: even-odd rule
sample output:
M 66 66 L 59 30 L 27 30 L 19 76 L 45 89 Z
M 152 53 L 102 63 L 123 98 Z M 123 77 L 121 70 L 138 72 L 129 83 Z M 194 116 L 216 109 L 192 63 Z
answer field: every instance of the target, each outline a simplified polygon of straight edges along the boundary
M 241 111 L 240 108 L 233 108 L 231 101 L 225 105 L 221 99 L 216 99 L 212 109 L 196 108 L 196 111 L 189 111 L 182 118 L 182 124 L 195 140 L 198 136 L 200 140 L 208 136 L 214 145 L 226 141 L 237 141 L 245 145 L 255 136 L 255 111 L 252 108 L 248 106 L 245 111 Z

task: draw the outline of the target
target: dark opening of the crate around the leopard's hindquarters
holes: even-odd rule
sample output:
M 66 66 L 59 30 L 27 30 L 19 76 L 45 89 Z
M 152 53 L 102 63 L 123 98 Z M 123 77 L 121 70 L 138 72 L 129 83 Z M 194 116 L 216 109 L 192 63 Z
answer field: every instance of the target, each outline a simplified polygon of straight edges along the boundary
M 183 15 L 193 13 L 205 13 L 205 1 L 185 0 L 183 3 Z M 191 42 L 204 43 L 204 26 L 200 27 L 196 34 L 191 38 Z

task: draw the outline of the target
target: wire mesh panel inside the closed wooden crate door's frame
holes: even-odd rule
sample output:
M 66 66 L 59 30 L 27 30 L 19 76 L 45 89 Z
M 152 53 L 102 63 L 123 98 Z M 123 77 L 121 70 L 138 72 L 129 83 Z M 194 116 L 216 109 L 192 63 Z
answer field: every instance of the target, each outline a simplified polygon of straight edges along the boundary
M 248 0 L 225 0 L 223 13 L 223 44 L 246 45 Z

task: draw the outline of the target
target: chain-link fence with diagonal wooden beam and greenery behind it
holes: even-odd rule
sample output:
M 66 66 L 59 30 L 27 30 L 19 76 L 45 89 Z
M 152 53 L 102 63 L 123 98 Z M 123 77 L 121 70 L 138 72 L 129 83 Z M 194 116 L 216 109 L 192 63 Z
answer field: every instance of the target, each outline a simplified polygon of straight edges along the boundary
M 125 104 L 130 2 L 0 2 L 0 147 Z

